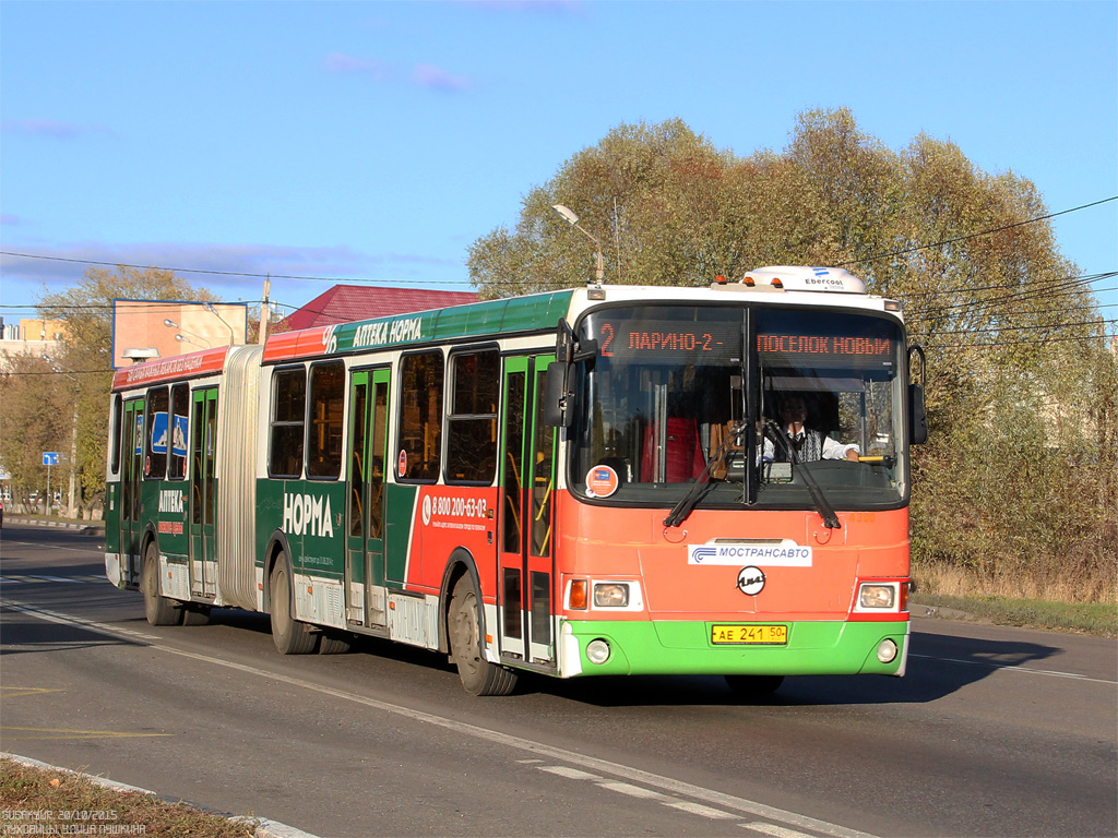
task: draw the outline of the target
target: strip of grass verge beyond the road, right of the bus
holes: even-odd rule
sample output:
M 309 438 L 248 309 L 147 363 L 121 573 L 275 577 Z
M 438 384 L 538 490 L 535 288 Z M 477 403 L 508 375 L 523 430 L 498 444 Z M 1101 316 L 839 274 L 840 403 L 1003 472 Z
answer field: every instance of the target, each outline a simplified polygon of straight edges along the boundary
M 1008 597 L 951 597 L 920 593 L 913 603 L 961 611 L 969 619 L 998 626 L 1118 637 L 1118 606 L 1105 602 L 1048 602 Z

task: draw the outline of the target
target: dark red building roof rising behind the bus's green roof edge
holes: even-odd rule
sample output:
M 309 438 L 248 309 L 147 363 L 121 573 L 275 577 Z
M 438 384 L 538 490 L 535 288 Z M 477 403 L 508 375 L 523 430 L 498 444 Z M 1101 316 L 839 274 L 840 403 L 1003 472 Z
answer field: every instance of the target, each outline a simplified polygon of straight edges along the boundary
M 383 288 L 371 285 L 335 285 L 283 321 L 275 331 L 286 332 L 391 314 L 426 312 L 477 302 L 472 291 L 429 288 Z

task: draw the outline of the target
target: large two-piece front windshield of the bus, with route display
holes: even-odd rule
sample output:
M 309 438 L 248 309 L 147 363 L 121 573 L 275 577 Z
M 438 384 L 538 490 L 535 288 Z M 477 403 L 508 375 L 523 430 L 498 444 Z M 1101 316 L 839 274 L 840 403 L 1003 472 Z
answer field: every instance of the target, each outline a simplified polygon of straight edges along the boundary
M 906 503 L 899 323 L 775 306 L 757 306 L 754 323 L 757 351 L 745 353 L 745 306 L 610 307 L 584 317 L 579 335 L 596 340 L 598 354 L 578 374 L 575 492 L 672 505 L 699 480 L 709 483 L 699 508 L 815 508 L 821 492 L 843 510 Z M 754 435 L 743 432 L 750 381 Z

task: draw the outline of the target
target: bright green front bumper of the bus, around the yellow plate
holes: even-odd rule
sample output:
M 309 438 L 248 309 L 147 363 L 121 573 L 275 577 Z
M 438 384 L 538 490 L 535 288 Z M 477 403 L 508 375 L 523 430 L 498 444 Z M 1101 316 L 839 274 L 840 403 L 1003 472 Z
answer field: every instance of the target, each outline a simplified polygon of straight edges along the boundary
M 779 622 L 774 620 L 773 622 Z M 779 646 L 718 645 L 710 621 L 570 620 L 562 626 L 563 674 L 576 675 L 903 675 L 909 622 L 785 622 Z M 609 644 L 609 658 L 590 663 L 593 640 Z M 897 656 L 878 659 L 882 640 Z M 576 650 L 577 646 L 577 650 Z M 578 663 L 574 658 L 577 655 Z

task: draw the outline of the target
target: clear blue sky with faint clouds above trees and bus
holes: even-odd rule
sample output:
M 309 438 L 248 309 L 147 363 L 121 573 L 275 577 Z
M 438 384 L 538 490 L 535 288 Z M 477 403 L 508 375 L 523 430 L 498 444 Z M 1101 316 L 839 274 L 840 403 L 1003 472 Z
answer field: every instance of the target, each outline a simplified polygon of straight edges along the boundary
M 471 242 L 612 127 L 681 117 L 745 156 L 815 107 L 950 140 L 1053 212 L 1118 196 L 1118 3 L 3 0 L 0 249 L 466 291 Z M 1118 201 L 1053 223 L 1118 269 Z M 9 322 L 85 270 L 0 258 Z

